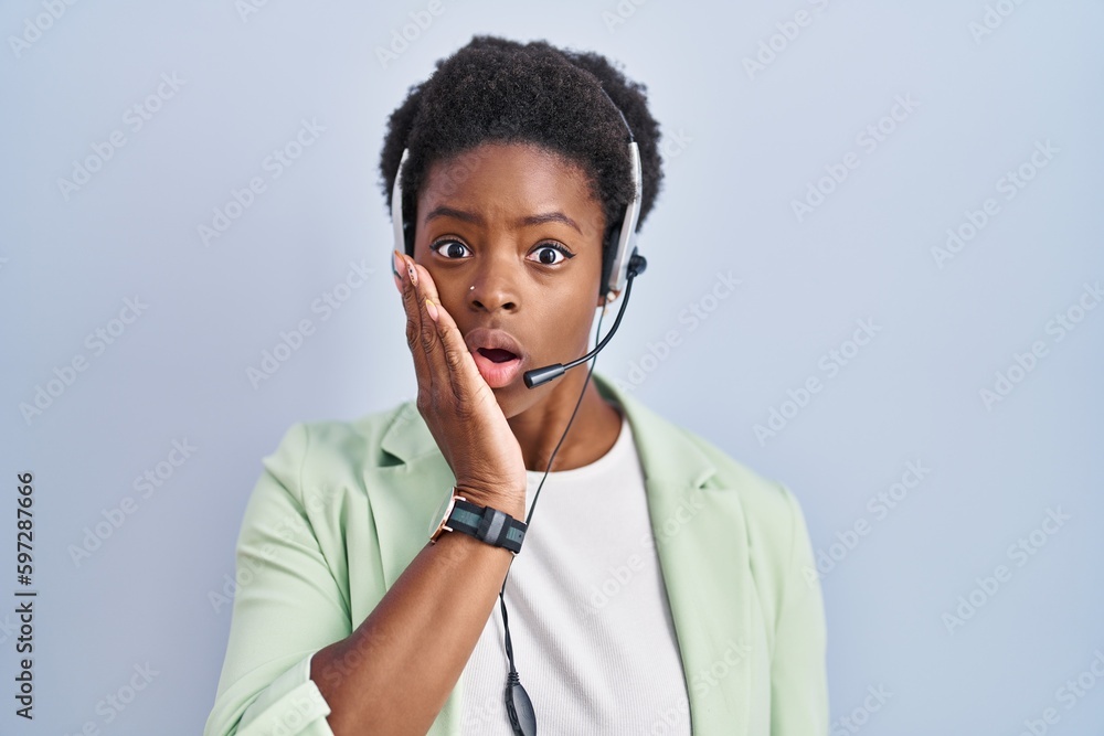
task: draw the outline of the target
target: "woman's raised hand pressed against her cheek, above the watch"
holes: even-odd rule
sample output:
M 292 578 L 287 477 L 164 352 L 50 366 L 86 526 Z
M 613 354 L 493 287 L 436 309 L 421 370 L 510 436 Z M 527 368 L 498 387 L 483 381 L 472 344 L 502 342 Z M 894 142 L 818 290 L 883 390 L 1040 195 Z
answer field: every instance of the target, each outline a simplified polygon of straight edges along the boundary
M 464 495 L 521 519 L 528 481 L 521 446 L 464 335 L 440 305 L 429 271 L 404 254 L 394 256 L 395 285 L 406 310 L 406 343 L 417 374 L 418 413 Z M 411 282 L 411 273 L 417 286 Z

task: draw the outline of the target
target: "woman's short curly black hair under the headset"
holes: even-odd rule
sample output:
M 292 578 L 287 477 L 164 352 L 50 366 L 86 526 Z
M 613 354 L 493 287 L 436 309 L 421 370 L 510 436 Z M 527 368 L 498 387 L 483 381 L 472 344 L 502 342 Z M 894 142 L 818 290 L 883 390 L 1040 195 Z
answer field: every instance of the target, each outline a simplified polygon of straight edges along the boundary
M 605 285 L 614 245 L 608 235 L 620 225 L 625 205 L 634 196 L 626 122 L 640 149 L 644 175 L 637 231 L 664 177 L 659 124 L 648 111 L 646 93 L 645 85 L 626 78 L 599 54 L 562 50 L 545 41 L 521 44 L 473 36 L 466 46 L 438 60 L 429 78 L 413 85 L 391 114 L 380 154 L 386 206 L 391 207 L 404 148 L 410 156 L 403 168 L 403 222 L 412 223 L 417 193 L 433 163 L 485 142 L 534 143 L 578 164 L 588 175 L 605 214 L 599 281 Z M 406 253 L 414 255 L 412 238 Z

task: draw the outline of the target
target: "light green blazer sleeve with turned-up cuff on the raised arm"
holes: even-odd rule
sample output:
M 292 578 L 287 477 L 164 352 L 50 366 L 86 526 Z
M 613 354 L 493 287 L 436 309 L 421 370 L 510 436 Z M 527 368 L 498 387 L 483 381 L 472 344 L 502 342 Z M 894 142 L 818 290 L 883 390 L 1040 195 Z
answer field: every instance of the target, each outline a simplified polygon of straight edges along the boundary
M 204 736 L 333 736 L 310 658 L 349 636 L 347 597 L 308 514 L 325 500 L 304 487 L 305 425 L 291 427 L 246 504 L 226 659 Z

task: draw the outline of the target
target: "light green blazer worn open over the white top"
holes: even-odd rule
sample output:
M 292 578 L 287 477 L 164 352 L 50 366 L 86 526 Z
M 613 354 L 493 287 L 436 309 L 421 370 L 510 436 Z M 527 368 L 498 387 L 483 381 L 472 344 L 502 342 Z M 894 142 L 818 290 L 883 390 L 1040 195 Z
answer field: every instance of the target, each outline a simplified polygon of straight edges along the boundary
M 633 428 L 697 735 L 828 733 L 826 631 L 800 508 L 595 373 Z M 413 402 L 291 427 L 264 459 L 206 736 L 332 736 L 310 657 L 348 637 L 427 542 L 453 474 Z M 460 734 L 464 678 L 429 733 Z

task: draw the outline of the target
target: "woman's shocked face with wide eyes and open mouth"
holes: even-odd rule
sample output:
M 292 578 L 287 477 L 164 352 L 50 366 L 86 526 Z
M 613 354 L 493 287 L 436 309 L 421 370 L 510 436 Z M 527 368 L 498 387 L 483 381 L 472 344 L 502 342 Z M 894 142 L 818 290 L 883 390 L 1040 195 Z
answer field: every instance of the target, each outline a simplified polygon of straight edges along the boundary
M 416 222 L 414 259 L 507 418 L 570 387 L 577 371 L 532 390 L 522 374 L 583 355 L 603 303 L 605 216 L 583 170 L 535 146 L 485 143 L 431 167 Z

